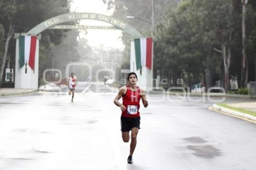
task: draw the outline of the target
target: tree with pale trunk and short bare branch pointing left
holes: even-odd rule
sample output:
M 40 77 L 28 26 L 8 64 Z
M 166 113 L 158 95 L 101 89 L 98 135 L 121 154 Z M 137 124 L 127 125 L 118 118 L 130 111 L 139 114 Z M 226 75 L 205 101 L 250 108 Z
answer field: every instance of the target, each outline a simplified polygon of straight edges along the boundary
M 228 91 L 230 89 L 229 68 L 234 27 L 233 0 L 204 0 L 203 2 L 195 0 L 195 3 L 201 5 L 201 23 L 203 28 L 206 28 L 205 38 L 211 44 L 217 44 L 217 46 L 221 47 L 221 49 L 217 49 L 216 47 L 213 49 L 223 55 L 224 87 Z

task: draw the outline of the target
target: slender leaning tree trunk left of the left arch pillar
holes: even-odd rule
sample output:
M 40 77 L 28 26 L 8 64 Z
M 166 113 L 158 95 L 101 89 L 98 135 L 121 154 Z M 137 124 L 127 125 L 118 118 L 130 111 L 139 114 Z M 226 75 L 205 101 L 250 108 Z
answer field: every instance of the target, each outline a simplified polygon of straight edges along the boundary
M 5 69 L 5 61 L 6 61 L 6 58 L 7 58 L 9 42 L 10 42 L 12 34 L 13 34 L 13 26 L 12 26 L 12 20 L 11 20 L 9 31 L 8 31 L 6 41 L 5 41 L 5 53 L 4 53 L 4 56 L 3 56 L 3 59 L 2 59 L 2 65 L 1 65 L 1 70 L 0 70 L 0 81 L 2 81 L 2 79 L 3 79 L 3 74 L 4 74 L 4 69 Z

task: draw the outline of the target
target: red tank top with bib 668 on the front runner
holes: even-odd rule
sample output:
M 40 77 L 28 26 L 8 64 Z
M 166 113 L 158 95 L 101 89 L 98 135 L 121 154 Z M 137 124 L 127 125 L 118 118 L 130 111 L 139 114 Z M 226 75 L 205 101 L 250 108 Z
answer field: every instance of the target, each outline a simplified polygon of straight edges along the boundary
M 125 111 L 122 111 L 122 116 L 124 117 L 139 117 L 139 101 L 140 101 L 140 90 L 134 92 L 130 89 L 129 85 L 126 85 L 127 91 L 122 96 L 123 105 L 126 107 Z

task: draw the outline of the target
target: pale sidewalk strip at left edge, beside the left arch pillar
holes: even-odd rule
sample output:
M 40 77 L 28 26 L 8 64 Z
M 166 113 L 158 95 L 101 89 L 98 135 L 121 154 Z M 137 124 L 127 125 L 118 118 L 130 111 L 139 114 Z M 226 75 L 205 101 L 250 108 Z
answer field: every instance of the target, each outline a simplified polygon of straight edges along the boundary
M 14 89 L 14 88 L 0 88 L 1 96 L 12 96 L 12 95 L 26 95 L 37 92 L 37 89 Z

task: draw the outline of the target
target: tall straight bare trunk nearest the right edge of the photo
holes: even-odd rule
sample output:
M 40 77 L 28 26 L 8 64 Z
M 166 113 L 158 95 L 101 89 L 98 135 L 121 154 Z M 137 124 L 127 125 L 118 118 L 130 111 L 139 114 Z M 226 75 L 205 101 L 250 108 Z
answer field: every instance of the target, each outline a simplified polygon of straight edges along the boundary
M 248 80 L 248 71 L 247 71 L 247 56 L 245 52 L 245 42 L 246 42 L 246 6 L 248 4 L 248 0 L 242 0 L 242 67 L 241 67 L 241 87 L 247 86 Z

